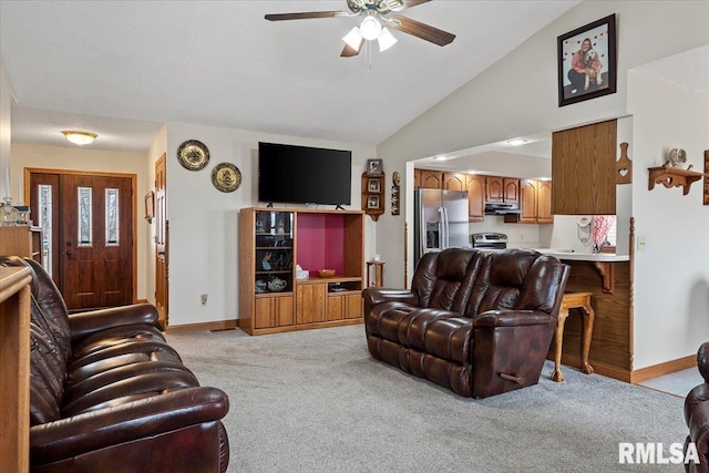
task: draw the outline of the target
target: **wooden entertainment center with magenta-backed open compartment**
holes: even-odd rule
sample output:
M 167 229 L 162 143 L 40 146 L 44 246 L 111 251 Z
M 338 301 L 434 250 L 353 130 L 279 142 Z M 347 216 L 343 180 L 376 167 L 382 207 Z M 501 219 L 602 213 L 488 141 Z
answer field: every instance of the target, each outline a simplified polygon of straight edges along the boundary
M 239 212 L 239 328 L 247 333 L 361 323 L 363 275 L 363 212 Z

